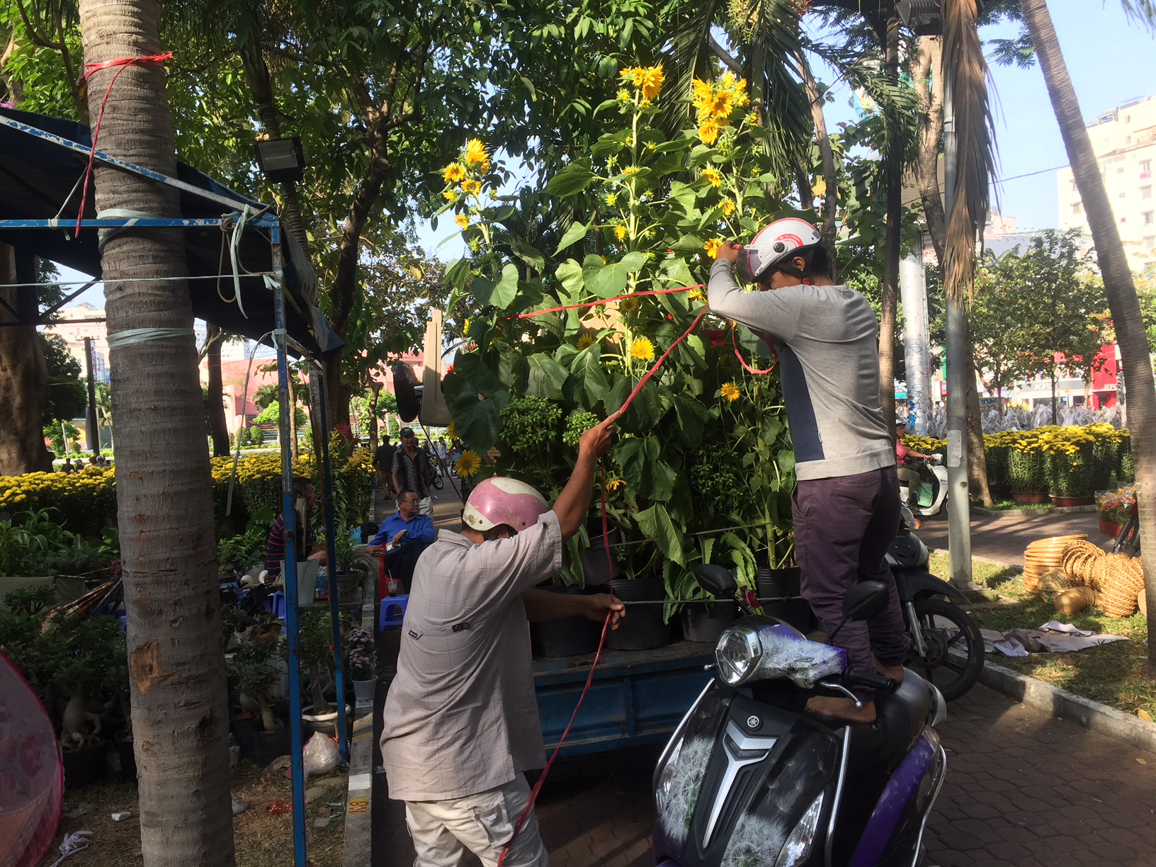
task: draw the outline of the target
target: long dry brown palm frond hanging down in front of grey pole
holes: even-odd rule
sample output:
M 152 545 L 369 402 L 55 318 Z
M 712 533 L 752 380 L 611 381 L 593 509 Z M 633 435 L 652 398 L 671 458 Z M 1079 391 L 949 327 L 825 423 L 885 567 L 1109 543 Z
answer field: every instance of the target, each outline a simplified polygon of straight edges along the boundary
M 983 237 L 995 169 L 995 136 L 987 98 L 987 60 L 976 28 L 977 0 L 947 0 L 943 7 L 943 69 L 955 106 L 956 172 L 947 227 L 943 288 L 949 298 L 970 297 L 975 286 L 976 238 Z

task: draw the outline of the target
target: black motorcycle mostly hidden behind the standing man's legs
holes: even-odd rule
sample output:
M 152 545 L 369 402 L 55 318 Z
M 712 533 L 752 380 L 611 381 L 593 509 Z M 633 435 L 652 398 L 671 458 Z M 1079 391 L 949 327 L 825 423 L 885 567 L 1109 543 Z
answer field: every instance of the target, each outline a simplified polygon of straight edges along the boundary
M 984 669 L 984 636 L 959 605 L 968 598 L 928 569 L 931 553 L 913 532 L 914 518 L 903 506 L 903 520 L 887 563 L 903 606 L 911 637 L 906 665 L 934 683 L 949 702 L 976 686 Z

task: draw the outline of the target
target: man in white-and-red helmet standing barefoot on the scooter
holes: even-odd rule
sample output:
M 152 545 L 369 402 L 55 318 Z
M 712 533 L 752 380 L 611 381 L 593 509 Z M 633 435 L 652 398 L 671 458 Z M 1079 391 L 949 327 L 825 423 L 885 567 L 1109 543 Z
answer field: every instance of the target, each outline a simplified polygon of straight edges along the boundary
M 734 279 L 757 283 L 744 292 Z M 887 566 L 899 526 L 899 490 L 888 417 L 880 403 L 879 324 L 870 303 L 830 277 L 818 231 L 803 220 L 777 220 L 754 240 L 724 245 L 711 268 L 711 309 L 775 342 L 799 480 L 793 502 L 802 594 L 831 633 L 843 596 L 865 580 L 890 588 L 887 609 L 838 633 L 849 662 L 903 680 L 907 633 Z M 870 722 L 874 695 L 816 697 L 812 713 Z

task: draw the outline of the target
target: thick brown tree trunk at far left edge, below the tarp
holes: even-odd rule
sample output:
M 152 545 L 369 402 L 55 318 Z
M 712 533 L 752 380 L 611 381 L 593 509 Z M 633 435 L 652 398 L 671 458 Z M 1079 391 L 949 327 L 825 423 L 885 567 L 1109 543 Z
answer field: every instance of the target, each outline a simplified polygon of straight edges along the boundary
M 13 310 L 21 310 L 20 290 L 6 284 L 16 279 L 15 251 L 0 244 L 0 299 Z M 25 295 L 24 302 L 28 298 Z M 15 321 L 0 305 L 0 323 Z M 44 447 L 44 395 L 49 371 L 44 350 L 32 326 L 0 326 L 0 406 L 5 422 L 0 424 L 0 475 L 51 472 L 52 454 Z

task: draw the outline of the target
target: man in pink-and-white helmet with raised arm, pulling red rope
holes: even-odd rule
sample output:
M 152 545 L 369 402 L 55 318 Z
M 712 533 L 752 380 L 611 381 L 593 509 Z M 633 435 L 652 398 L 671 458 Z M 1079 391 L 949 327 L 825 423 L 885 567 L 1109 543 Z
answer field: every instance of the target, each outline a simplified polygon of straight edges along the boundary
M 533 812 L 514 837 L 529 802 L 523 772 L 546 764 L 527 621 L 609 615 L 617 628 L 623 616 L 613 595 L 534 586 L 561 569 L 586 520 L 616 417 L 583 433 L 553 509 L 525 482 L 483 480 L 461 533 L 440 531 L 417 561 L 380 744 L 415 867 L 458 867 L 467 850 L 495 867 L 507 845 L 507 867 L 548 864 Z

